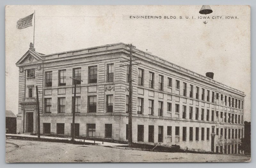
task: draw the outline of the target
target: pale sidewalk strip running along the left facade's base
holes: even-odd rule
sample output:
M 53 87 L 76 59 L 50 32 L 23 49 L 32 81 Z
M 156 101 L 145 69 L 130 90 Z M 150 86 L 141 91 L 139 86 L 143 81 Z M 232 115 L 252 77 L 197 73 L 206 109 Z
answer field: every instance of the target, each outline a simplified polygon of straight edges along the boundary
M 26 135 L 26 134 L 5 134 L 5 136 L 12 136 L 12 137 L 31 137 L 31 138 L 37 138 L 37 135 Z M 40 136 L 44 139 L 55 139 L 55 140 L 71 140 L 71 138 L 61 138 L 61 137 L 48 137 L 48 136 Z M 83 139 L 75 139 L 75 141 L 78 142 L 88 142 L 88 143 L 94 143 L 94 140 L 83 140 Z M 110 142 L 103 142 L 102 141 L 95 141 L 95 144 L 99 146 L 120 146 L 120 145 L 127 145 L 127 144 L 120 144 L 120 143 L 110 143 Z M 128 146 L 128 145 L 127 145 Z

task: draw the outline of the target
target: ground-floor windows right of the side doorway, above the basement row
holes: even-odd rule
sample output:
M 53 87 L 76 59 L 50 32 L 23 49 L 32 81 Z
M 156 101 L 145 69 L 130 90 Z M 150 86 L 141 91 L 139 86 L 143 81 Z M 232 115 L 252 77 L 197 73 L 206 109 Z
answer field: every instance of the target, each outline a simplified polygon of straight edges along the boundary
M 231 129 L 231 128 L 224 128 L 224 139 L 237 139 L 237 130 L 238 130 L 238 139 L 243 138 L 243 132 L 244 130 L 242 129 L 242 136 L 240 137 L 240 132 L 241 129 Z M 228 137 L 227 137 L 227 132 L 228 132 Z M 230 137 L 231 134 L 231 137 Z M 223 128 L 216 128 L 216 135 L 220 135 L 220 139 L 223 137 Z

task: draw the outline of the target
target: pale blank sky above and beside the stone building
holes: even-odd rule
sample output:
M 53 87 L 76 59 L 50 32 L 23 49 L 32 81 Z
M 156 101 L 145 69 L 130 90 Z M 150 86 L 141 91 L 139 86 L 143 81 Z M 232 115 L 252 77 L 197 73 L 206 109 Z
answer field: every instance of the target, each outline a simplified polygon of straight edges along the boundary
M 36 11 L 36 52 L 51 54 L 132 43 L 137 49 L 196 73 L 213 72 L 217 82 L 244 92 L 244 120 L 251 121 L 250 7 L 211 5 L 213 12 L 207 15 L 199 13 L 201 7 L 6 6 L 6 110 L 18 114 L 19 68 L 15 63 L 33 42 L 34 18 L 33 26 L 25 29 L 17 29 L 16 23 Z M 209 18 L 200 19 L 203 16 Z

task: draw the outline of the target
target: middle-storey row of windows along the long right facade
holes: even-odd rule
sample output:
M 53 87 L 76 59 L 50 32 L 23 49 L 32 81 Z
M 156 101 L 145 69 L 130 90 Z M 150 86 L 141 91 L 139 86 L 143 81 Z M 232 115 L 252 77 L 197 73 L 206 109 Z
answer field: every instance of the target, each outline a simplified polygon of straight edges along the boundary
M 143 114 L 143 98 L 138 98 L 137 114 Z M 129 96 L 126 97 L 126 113 L 128 113 Z M 158 116 L 163 116 L 163 101 L 158 101 Z M 167 102 L 167 112 L 172 112 L 172 103 Z M 175 104 L 175 114 L 180 114 L 180 104 Z M 148 115 L 154 115 L 154 100 L 148 100 Z M 189 107 L 189 116 L 187 117 L 187 106 L 182 105 L 182 118 L 193 119 L 193 107 Z M 238 118 L 237 118 L 238 117 Z M 212 110 L 211 121 L 214 121 L 214 110 Z M 216 118 L 219 118 L 219 111 L 216 111 Z M 223 112 L 220 112 L 220 118 L 223 118 Z M 199 108 L 196 108 L 195 119 L 199 120 Z M 234 120 L 235 119 L 235 120 Z M 241 115 L 243 124 L 243 115 Z M 204 108 L 201 108 L 201 120 L 204 120 Z M 206 121 L 210 121 L 210 110 L 206 110 Z M 227 113 L 224 113 L 224 122 L 227 122 Z M 240 115 L 228 113 L 228 123 L 240 124 Z

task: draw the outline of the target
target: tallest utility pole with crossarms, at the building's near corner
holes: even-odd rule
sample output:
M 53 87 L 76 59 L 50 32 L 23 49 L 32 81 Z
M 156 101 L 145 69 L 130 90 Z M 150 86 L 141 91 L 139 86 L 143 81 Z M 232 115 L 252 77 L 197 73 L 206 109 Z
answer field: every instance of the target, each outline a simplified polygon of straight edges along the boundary
M 135 48 L 132 44 L 128 44 L 130 48 L 130 60 L 129 65 L 120 65 L 120 67 L 129 66 L 128 82 L 129 82 L 129 105 L 128 105 L 128 146 L 132 147 L 132 65 L 139 65 L 140 63 L 132 64 L 133 56 L 132 49 Z M 125 62 L 125 61 L 120 61 Z

